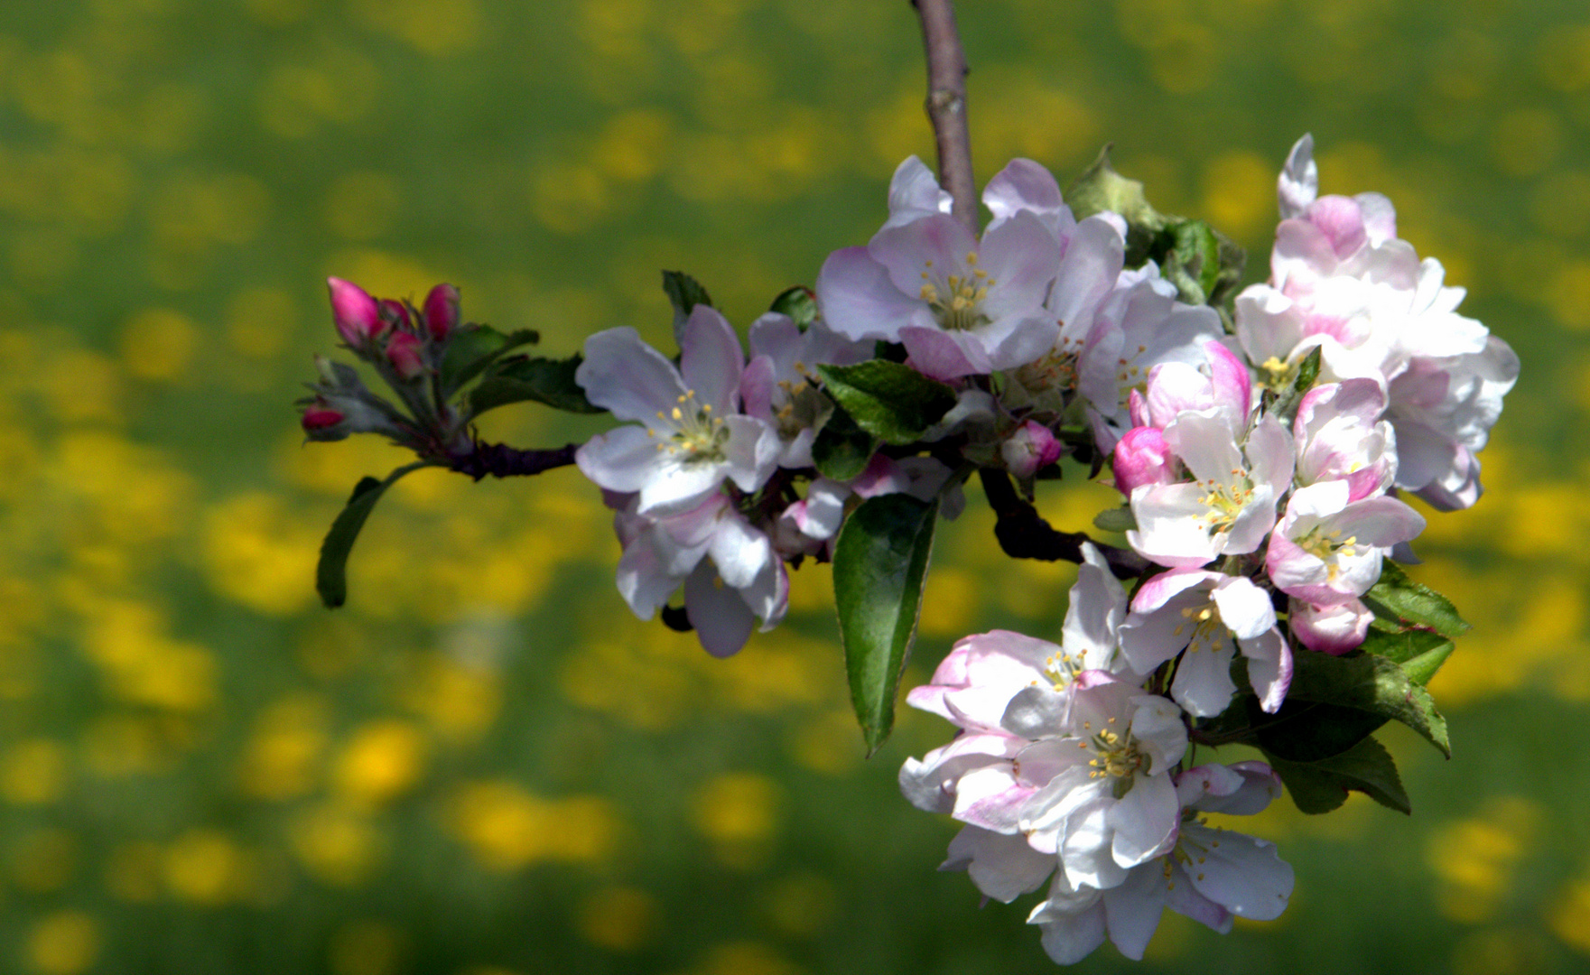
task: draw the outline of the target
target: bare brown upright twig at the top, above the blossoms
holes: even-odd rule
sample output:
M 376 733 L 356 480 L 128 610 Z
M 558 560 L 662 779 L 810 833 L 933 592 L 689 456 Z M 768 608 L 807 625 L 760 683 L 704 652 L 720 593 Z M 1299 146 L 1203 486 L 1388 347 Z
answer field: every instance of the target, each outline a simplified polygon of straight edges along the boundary
M 911 0 L 922 19 L 927 49 L 927 118 L 938 138 L 938 183 L 954 199 L 956 219 L 978 232 L 978 185 L 971 178 L 971 137 L 967 134 L 967 54 L 956 30 L 951 0 Z

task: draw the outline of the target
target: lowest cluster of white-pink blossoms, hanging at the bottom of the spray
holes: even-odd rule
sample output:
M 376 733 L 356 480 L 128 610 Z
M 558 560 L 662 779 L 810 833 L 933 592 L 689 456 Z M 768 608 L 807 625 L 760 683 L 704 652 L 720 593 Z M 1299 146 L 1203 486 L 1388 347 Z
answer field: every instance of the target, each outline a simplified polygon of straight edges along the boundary
M 1181 709 L 1119 652 L 1124 616 L 1126 593 L 1089 546 L 1061 646 L 968 636 L 906 698 L 962 728 L 900 770 L 917 808 L 965 824 L 943 868 L 1006 903 L 1048 880 L 1029 923 L 1061 964 L 1107 934 L 1142 958 L 1165 907 L 1220 932 L 1234 916 L 1274 919 L 1293 889 L 1270 843 L 1202 816 L 1258 813 L 1280 779 L 1261 762 L 1183 768 Z

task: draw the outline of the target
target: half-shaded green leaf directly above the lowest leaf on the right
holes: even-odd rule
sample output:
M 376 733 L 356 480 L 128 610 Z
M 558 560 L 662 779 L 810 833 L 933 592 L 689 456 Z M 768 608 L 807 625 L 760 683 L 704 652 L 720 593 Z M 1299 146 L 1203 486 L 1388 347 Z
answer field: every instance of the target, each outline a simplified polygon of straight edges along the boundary
M 1434 698 L 1385 657 L 1332 657 L 1299 649 L 1293 657 L 1293 682 L 1286 700 L 1336 705 L 1401 721 L 1452 757 L 1447 719 L 1436 711 Z

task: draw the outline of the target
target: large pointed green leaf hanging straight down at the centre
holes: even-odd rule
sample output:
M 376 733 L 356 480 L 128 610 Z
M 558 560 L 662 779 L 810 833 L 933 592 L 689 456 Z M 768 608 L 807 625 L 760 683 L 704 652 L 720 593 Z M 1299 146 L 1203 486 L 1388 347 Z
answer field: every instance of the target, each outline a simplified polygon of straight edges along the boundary
M 881 495 L 851 512 L 835 542 L 833 600 L 851 701 L 868 754 L 894 728 L 895 693 L 916 636 L 937 517 L 938 501 Z

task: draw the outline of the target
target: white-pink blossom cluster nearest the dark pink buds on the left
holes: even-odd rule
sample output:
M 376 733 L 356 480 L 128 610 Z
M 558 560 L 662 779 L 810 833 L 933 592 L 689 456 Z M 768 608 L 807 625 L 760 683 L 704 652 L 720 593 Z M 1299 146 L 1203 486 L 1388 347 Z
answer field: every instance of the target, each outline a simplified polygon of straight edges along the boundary
M 781 313 L 750 324 L 750 358 L 716 309 L 696 304 L 679 332 L 677 366 L 631 328 L 585 340 L 576 382 L 587 399 L 633 421 L 576 453 L 603 488 L 623 546 L 619 592 L 652 619 L 684 585 L 701 646 L 738 652 L 789 606 L 785 563 L 827 557 L 851 496 L 932 496 L 951 471 L 932 458 L 876 455 L 857 477 L 812 469 L 816 428 L 832 404 L 820 364 L 870 358 L 871 347 Z M 797 474 L 808 485 L 797 493 Z

